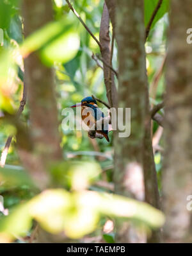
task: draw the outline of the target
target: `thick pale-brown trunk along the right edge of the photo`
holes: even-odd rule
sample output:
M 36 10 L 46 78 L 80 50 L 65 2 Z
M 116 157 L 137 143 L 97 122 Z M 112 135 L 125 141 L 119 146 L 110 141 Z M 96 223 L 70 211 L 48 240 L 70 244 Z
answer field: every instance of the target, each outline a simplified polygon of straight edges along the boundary
M 164 123 L 163 206 L 166 242 L 191 243 L 192 212 L 192 46 L 186 42 L 191 28 L 191 1 L 171 1 L 166 69 Z

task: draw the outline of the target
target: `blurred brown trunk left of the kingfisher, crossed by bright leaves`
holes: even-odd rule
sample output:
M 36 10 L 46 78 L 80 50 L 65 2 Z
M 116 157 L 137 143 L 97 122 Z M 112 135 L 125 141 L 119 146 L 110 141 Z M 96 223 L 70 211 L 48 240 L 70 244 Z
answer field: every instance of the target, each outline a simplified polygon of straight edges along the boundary
M 52 20 L 51 0 L 24 0 L 24 35 L 28 37 Z M 42 64 L 38 53 L 32 53 L 24 60 L 24 82 L 28 85 L 30 109 L 30 133 L 33 152 L 19 150 L 24 166 L 40 186 L 46 189 L 51 185 L 47 172 L 47 162 L 60 160 L 62 152 L 58 133 L 54 73 Z M 38 243 L 63 242 L 65 237 L 47 234 L 38 228 Z

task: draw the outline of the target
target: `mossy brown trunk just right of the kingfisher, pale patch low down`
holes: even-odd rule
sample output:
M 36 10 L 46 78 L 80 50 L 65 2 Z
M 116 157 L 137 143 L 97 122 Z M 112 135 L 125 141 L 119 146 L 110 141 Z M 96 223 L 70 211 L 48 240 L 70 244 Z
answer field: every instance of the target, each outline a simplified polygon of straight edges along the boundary
M 144 200 L 143 139 L 145 135 L 145 28 L 143 1 L 116 3 L 116 41 L 118 44 L 118 108 L 131 108 L 131 135 L 115 141 L 115 192 Z M 129 125 L 129 124 L 127 124 Z M 145 242 L 130 223 L 119 223 L 118 243 Z

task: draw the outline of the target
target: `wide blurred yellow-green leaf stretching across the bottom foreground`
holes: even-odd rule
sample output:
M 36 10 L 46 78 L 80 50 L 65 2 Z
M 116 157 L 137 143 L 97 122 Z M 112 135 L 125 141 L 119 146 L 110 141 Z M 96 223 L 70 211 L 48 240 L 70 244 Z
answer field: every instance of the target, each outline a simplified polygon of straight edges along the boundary
M 147 203 L 107 193 L 53 189 L 1 218 L 0 239 L 4 235 L 14 239 L 15 235 L 25 234 L 32 219 L 52 234 L 64 231 L 68 237 L 78 239 L 93 232 L 100 216 L 104 215 L 137 220 L 150 228 L 164 224 L 163 213 Z

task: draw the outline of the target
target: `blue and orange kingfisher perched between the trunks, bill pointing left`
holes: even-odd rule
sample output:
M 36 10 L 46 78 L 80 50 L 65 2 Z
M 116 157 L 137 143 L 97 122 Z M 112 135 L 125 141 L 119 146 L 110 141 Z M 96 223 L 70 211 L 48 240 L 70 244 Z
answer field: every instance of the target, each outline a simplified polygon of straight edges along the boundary
M 88 126 L 88 128 L 91 128 L 93 124 L 96 125 L 99 119 L 104 118 L 104 113 L 97 106 L 97 101 L 92 97 L 86 97 L 82 99 L 81 103 L 77 103 L 71 106 L 71 108 L 76 108 L 76 107 L 81 107 L 81 118 L 83 121 L 88 117 L 88 122 L 85 123 Z M 88 112 L 84 110 L 87 110 Z M 96 130 L 96 132 L 103 135 L 106 138 L 106 140 L 109 142 L 108 126 L 106 127 L 106 125 L 102 124 L 101 130 Z

